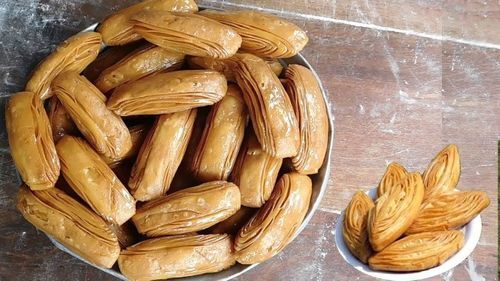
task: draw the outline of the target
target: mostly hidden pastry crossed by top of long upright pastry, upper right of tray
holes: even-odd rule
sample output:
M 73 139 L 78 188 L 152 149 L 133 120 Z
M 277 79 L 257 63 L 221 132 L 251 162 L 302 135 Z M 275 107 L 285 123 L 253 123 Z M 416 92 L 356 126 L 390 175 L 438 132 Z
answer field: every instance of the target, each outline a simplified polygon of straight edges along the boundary
M 271 70 L 279 76 L 283 70 L 283 66 L 276 59 L 262 58 L 270 67 Z M 188 64 L 193 69 L 213 69 L 226 77 L 227 81 L 236 82 L 234 71 L 236 68 L 237 57 L 230 57 L 227 59 L 214 59 L 210 57 L 188 57 Z

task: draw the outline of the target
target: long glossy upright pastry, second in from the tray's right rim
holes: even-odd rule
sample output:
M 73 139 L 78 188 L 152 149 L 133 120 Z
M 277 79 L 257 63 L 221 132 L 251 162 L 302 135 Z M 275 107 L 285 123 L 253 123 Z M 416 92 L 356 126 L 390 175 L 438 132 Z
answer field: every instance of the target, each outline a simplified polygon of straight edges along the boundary
M 238 55 L 237 66 L 236 81 L 243 91 L 262 148 L 279 158 L 297 155 L 299 124 L 278 77 L 262 59 L 254 55 Z

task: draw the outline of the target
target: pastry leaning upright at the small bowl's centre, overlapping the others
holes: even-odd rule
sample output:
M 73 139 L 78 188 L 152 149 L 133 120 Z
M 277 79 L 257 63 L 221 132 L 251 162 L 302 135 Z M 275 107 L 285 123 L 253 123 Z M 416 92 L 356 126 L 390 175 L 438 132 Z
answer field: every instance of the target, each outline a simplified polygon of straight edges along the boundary
M 368 213 L 368 237 L 379 252 L 396 241 L 418 216 L 424 198 L 419 173 L 410 173 L 377 199 Z

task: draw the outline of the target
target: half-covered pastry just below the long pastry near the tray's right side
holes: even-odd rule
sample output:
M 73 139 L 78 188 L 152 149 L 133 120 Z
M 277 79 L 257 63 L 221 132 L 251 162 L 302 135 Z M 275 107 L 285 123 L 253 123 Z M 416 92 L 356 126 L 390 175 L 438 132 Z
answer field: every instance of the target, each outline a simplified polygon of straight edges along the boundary
M 231 173 L 231 180 L 240 187 L 241 205 L 259 208 L 273 191 L 283 159 L 262 150 L 252 130 L 247 136 Z

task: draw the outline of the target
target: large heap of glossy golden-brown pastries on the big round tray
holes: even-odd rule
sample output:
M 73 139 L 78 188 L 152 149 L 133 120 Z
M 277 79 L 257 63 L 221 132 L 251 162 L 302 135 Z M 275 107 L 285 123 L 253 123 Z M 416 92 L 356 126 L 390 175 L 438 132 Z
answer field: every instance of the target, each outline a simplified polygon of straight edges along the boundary
M 69 38 L 6 108 L 18 209 L 134 280 L 271 258 L 327 150 L 315 75 L 277 60 L 307 41 L 275 16 L 192 0 L 140 2 Z

